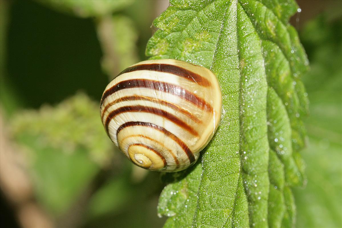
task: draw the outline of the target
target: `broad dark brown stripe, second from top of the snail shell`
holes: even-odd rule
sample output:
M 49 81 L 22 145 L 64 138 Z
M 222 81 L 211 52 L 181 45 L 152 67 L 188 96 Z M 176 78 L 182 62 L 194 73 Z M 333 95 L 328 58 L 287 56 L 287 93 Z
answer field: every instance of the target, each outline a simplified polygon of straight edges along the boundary
M 101 106 L 103 104 L 103 101 L 109 95 L 119 90 L 129 89 L 129 88 L 147 88 L 147 89 L 162 91 L 165 93 L 170 93 L 172 95 L 181 97 L 182 99 L 185 99 L 193 103 L 194 105 L 199 107 L 201 110 L 213 112 L 213 107 L 210 104 L 208 104 L 204 99 L 197 96 L 196 94 L 175 84 L 149 80 L 149 79 L 130 79 L 130 80 L 118 82 L 117 84 L 113 85 L 111 88 L 109 88 L 103 93 L 102 99 L 101 99 Z

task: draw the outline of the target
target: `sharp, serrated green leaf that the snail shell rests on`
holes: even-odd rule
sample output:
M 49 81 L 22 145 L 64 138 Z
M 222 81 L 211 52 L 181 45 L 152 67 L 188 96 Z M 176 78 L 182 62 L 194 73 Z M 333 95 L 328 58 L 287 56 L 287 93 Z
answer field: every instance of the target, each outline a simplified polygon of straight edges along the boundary
M 170 3 L 153 22 L 159 30 L 147 43 L 146 55 L 211 69 L 221 84 L 223 112 L 202 152 L 202 165 L 183 171 L 182 179 L 168 174 L 175 181 L 159 200 L 159 213 L 171 216 L 165 226 L 280 227 L 285 216 L 292 226 L 294 201 L 284 185 L 304 182 L 301 160 L 293 155 L 305 142 L 307 98 L 299 78 L 308 68 L 297 33 L 288 24 L 297 4 Z M 170 196 L 171 191 L 176 195 Z

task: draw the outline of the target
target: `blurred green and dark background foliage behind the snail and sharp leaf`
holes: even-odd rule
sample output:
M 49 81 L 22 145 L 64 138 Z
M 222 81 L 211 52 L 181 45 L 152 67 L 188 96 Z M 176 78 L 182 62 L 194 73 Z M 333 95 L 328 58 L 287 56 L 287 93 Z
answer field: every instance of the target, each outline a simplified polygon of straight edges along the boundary
M 302 152 L 308 182 L 294 189 L 297 226 L 342 227 L 342 4 L 298 3 L 292 24 L 311 63 L 303 77 L 311 114 Z M 167 6 L 0 2 L 1 225 L 163 225 L 159 173 L 133 166 L 113 147 L 99 100 L 118 72 L 146 59 L 150 26 Z

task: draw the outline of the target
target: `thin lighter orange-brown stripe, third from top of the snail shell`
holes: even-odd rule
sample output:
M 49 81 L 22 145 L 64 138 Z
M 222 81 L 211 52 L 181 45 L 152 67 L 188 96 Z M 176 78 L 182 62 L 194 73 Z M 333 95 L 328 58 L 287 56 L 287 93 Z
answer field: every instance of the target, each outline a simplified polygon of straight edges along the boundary
M 146 96 L 138 96 L 138 95 L 134 95 L 134 96 L 126 96 L 126 97 L 122 97 L 119 99 L 114 100 L 113 102 L 110 102 L 109 104 L 107 104 L 101 114 L 101 118 L 103 119 L 105 112 L 108 110 L 108 108 L 110 108 L 112 105 L 115 105 L 117 103 L 120 102 L 124 102 L 124 101 L 131 101 L 131 100 L 147 100 L 150 102 L 154 102 L 154 103 L 158 103 L 161 105 L 165 105 L 167 107 L 170 107 L 172 109 L 174 109 L 175 111 L 181 112 L 183 115 L 189 117 L 191 120 L 193 120 L 196 123 L 202 123 L 202 121 L 200 119 L 198 119 L 196 116 L 194 116 L 191 112 L 189 112 L 188 110 L 179 107 L 178 105 L 172 104 L 171 102 L 167 102 L 166 100 L 160 100 L 157 98 L 153 98 L 153 97 L 146 97 Z

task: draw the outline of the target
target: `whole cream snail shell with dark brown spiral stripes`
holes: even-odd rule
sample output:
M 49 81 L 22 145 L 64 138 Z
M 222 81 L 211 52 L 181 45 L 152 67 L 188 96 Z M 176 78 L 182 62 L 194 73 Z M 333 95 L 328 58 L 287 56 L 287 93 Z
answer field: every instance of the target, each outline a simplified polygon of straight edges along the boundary
M 221 89 L 207 68 L 175 59 L 123 70 L 101 99 L 112 142 L 136 165 L 175 172 L 195 163 L 221 116 Z

